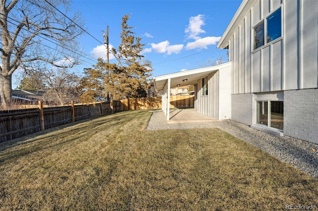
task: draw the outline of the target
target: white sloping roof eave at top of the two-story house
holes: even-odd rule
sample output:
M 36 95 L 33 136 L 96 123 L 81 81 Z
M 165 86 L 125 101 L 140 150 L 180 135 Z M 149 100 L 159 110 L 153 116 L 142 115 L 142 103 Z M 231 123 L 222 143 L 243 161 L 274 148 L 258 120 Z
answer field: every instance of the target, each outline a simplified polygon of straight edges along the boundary
M 234 34 L 234 31 L 239 27 L 240 22 L 246 16 L 247 12 L 252 8 L 256 0 L 243 0 L 239 6 L 239 9 L 233 16 L 230 24 L 223 33 L 221 39 L 218 42 L 217 48 L 224 49 L 228 46 L 228 42 L 231 36 Z

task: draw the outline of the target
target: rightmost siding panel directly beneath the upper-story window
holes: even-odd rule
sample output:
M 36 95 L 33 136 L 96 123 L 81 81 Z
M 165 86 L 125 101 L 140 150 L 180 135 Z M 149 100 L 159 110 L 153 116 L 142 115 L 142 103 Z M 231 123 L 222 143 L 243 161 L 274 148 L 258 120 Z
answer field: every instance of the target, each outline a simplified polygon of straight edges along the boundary
M 283 88 L 283 41 L 273 43 L 271 48 L 271 87 L 272 91 L 280 91 Z

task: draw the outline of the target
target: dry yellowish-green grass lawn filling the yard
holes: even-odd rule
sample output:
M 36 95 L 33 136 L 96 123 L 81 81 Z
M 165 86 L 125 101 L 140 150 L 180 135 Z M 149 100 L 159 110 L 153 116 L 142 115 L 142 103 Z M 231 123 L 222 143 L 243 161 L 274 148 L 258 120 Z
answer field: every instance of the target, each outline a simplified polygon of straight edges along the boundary
M 125 111 L 0 144 L 0 210 L 284 210 L 318 179 L 218 129 Z

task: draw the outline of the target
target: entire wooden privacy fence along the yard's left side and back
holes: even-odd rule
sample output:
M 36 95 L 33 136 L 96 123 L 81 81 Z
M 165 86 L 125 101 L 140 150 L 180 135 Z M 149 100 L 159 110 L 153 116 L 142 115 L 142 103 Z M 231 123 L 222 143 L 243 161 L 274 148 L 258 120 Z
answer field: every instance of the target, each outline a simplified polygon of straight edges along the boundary
M 170 108 L 193 107 L 194 96 L 171 96 Z M 132 98 L 114 101 L 114 112 L 123 110 L 160 109 L 161 98 Z M 89 105 L 0 110 L 0 143 L 41 130 L 110 113 L 110 104 L 101 102 Z

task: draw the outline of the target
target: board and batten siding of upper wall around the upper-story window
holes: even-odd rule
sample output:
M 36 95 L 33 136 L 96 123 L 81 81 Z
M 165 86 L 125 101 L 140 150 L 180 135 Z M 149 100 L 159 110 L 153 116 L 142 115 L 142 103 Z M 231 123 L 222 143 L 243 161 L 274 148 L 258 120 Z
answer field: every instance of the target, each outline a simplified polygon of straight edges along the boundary
M 253 50 L 252 27 L 280 7 L 282 37 Z M 232 94 L 317 88 L 317 1 L 257 0 L 232 35 L 229 51 Z

